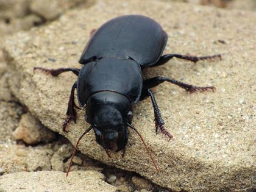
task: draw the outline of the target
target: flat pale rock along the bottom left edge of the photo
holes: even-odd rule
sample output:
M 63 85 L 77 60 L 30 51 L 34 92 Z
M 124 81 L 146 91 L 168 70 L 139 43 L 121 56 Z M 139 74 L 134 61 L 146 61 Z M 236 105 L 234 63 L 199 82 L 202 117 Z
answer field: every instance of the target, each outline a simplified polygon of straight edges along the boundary
M 0 177 L 0 191 L 116 191 L 96 171 L 74 171 L 66 177 L 60 171 L 16 172 Z

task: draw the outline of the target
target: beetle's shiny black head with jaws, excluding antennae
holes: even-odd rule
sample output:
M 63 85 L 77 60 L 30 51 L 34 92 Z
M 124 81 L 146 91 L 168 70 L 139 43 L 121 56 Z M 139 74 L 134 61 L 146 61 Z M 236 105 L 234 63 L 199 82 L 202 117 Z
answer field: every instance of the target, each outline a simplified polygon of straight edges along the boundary
M 127 144 L 127 123 L 132 123 L 132 104 L 119 93 L 95 93 L 88 98 L 85 120 L 93 126 L 96 141 L 102 147 L 118 152 Z

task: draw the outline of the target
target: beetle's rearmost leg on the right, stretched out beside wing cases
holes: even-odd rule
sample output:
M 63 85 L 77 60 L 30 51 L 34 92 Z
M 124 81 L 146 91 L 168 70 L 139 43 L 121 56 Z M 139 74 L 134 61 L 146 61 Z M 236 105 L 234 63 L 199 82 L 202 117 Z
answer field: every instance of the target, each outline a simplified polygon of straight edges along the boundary
M 158 60 L 157 63 L 155 63 L 152 66 L 159 66 L 159 65 L 163 65 L 165 63 L 167 63 L 170 59 L 172 59 L 172 57 L 176 57 L 178 59 L 185 59 L 185 60 L 189 60 L 191 62 L 198 62 L 199 60 L 215 60 L 215 59 L 220 59 L 221 60 L 221 55 L 210 55 L 210 56 L 203 56 L 203 57 L 196 57 L 193 55 L 179 55 L 179 54 L 166 54 L 163 55 L 162 57 L 160 57 L 160 59 Z

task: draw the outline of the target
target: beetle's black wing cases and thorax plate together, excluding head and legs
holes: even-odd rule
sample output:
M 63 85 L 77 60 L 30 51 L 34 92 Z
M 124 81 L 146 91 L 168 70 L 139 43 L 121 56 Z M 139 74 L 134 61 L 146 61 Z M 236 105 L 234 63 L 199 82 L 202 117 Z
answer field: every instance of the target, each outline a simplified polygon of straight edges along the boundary
M 119 16 L 103 24 L 79 59 L 84 64 L 77 81 L 79 104 L 98 91 L 115 91 L 137 102 L 143 86 L 141 66 L 159 60 L 167 39 L 162 27 L 146 16 Z M 90 61 L 92 57 L 96 60 Z

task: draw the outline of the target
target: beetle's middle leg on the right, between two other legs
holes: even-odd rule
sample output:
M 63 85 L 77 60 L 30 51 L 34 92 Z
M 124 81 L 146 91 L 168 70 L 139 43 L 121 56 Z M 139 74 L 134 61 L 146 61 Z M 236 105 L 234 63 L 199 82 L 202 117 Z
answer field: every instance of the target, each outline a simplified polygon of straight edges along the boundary
M 178 85 L 179 87 L 185 89 L 186 91 L 190 91 L 190 93 L 193 93 L 194 91 L 207 91 L 207 90 L 215 91 L 215 87 L 213 86 L 197 87 L 190 84 L 184 84 L 178 80 L 169 79 L 166 77 L 152 77 L 151 79 L 143 80 L 143 88 L 146 89 L 146 88 L 156 87 L 157 85 L 162 84 L 165 81 L 174 85 Z

